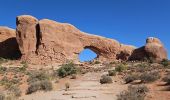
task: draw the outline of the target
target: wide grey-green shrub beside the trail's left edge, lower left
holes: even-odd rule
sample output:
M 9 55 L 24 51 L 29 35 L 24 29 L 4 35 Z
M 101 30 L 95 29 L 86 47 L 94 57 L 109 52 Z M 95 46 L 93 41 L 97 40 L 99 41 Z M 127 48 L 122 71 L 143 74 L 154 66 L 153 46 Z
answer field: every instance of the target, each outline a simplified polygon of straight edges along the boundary
M 27 89 L 27 94 L 31 94 L 38 90 L 50 91 L 52 90 L 52 83 L 49 80 L 42 80 L 30 83 Z

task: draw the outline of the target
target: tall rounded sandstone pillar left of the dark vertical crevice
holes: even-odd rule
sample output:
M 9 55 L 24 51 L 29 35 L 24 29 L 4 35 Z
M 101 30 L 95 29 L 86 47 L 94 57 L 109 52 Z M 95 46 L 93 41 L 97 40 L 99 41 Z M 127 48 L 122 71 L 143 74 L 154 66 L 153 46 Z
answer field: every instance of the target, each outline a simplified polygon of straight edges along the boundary
M 22 15 L 17 17 L 16 23 L 16 38 L 19 49 L 23 59 L 27 59 L 29 55 L 36 51 L 38 20 L 29 15 Z

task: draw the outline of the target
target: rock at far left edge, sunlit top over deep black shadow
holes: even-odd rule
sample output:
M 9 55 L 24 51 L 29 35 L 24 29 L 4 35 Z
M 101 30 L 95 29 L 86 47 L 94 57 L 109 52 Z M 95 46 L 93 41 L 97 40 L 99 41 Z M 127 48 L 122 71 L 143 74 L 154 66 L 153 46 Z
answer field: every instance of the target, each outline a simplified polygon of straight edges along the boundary
M 0 27 L 0 57 L 19 59 L 20 56 L 15 30 L 8 27 Z

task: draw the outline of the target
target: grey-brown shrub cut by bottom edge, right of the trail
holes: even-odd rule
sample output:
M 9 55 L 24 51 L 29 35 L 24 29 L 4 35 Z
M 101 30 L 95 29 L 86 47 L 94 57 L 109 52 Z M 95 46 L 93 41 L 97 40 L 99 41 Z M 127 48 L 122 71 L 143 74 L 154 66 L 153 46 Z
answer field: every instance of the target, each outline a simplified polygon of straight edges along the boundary
M 117 95 L 117 100 L 144 100 L 148 88 L 145 85 L 129 86 L 127 91 Z

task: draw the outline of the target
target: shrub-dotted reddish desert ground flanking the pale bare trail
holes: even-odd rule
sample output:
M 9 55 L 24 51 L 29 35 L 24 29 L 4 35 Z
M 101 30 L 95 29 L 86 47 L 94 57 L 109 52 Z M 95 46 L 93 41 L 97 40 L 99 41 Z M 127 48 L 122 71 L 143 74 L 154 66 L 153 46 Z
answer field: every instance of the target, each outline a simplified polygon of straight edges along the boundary
M 3 62 L 4 61 L 4 62 Z M 0 93 L 0 100 L 14 100 L 24 95 L 31 95 L 35 92 L 54 91 L 55 85 L 60 80 L 77 81 L 86 73 L 101 73 L 98 82 L 103 84 L 127 85 L 128 89 L 117 94 L 117 100 L 144 100 L 150 93 L 150 85 L 155 82 L 165 82 L 170 90 L 169 61 L 161 62 L 137 61 L 137 62 L 110 62 L 96 63 L 89 62 L 85 65 L 68 62 L 59 65 L 58 68 L 30 69 L 27 62 L 21 62 L 20 67 L 6 67 L 3 63 L 10 62 L 3 60 L 0 66 L 0 85 L 3 92 Z M 84 66 L 90 67 L 84 67 Z M 101 67 L 91 67 L 101 66 Z M 104 74 L 102 74 L 104 73 Z M 118 80 L 116 80 L 118 78 Z M 22 85 L 26 84 L 23 90 Z M 63 83 L 64 91 L 70 91 L 72 83 Z M 74 97 L 75 98 L 75 97 Z M 137 99 L 138 98 L 138 99 Z

